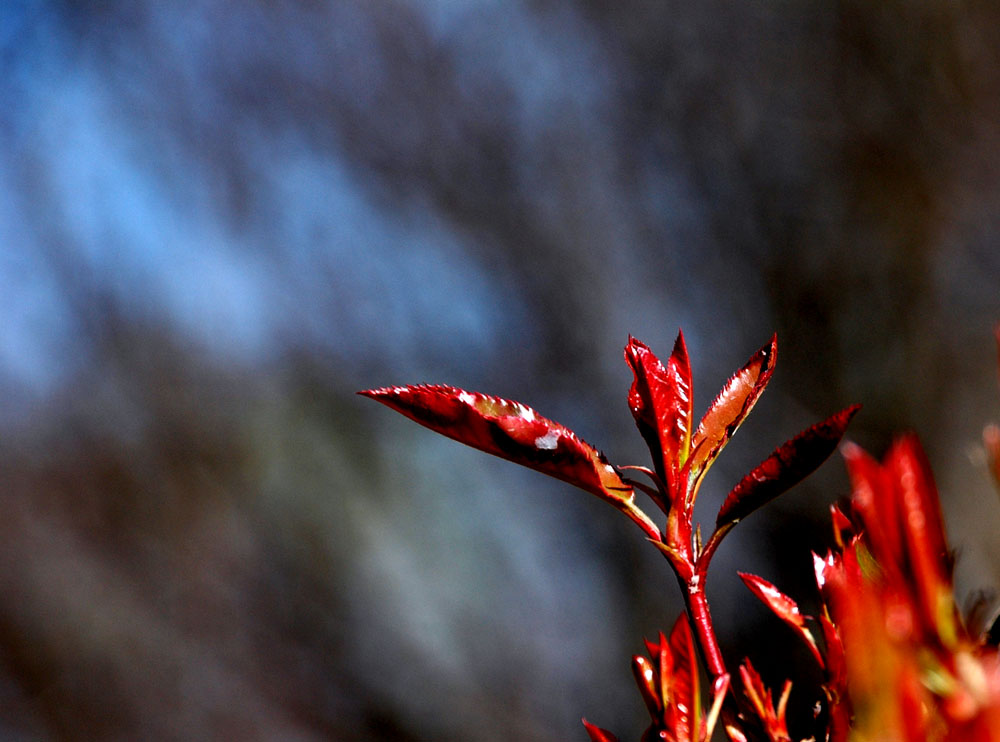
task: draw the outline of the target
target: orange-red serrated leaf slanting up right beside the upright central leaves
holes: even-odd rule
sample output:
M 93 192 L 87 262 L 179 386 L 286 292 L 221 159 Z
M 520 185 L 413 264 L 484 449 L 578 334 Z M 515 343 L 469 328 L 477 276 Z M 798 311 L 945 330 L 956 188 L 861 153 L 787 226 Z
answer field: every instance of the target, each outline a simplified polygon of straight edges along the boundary
M 704 474 L 733 433 L 750 414 L 757 399 L 771 380 L 778 359 L 778 336 L 753 354 L 749 361 L 733 374 L 719 392 L 708 412 L 701 419 L 691 438 L 692 475 Z

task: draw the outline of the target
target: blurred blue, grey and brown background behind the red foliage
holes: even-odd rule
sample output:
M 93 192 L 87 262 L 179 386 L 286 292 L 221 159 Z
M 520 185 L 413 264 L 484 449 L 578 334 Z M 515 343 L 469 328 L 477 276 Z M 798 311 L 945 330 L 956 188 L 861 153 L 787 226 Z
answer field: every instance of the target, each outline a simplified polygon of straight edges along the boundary
M 680 611 L 596 498 L 354 395 L 521 400 L 645 464 L 627 335 L 696 414 L 773 331 L 701 519 L 852 402 L 917 431 L 1000 586 L 1000 5 L 0 2 L 0 739 L 637 739 Z M 735 575 L 815 604 L 835 456 Z M 800 650 L 802 650 L 800 652 Z

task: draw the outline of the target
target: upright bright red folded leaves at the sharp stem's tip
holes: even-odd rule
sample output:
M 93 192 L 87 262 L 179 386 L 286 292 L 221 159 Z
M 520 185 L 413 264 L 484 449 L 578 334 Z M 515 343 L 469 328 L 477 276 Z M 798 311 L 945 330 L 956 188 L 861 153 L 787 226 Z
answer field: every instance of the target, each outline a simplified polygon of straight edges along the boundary
M 625 360 L 635 375 L 628 393 L 629 408 L 657 474 L 672 493 L 691 446 L 691 362 L 684 333 L 677 334 L 666 368 L 653 351 L 631 336 Z

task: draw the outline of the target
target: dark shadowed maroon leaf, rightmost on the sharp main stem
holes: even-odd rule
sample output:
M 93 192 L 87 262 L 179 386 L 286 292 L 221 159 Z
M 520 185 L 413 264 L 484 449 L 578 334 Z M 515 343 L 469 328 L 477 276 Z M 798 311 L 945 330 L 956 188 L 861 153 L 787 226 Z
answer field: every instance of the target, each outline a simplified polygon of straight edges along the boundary
M 833 453 L 858 409 L 853 405 L 841 410 L 779 446 L 729 493 L 716 528 L 739 522 L 811 474 Z

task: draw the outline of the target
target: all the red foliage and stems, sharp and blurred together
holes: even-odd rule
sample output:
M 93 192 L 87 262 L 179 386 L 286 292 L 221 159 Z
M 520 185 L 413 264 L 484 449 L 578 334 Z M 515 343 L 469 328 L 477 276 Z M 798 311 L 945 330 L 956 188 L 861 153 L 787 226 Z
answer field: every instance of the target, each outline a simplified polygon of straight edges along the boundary
M 614 466 L 571 430 L 518 402 L 428 385 L 361 394 L 432 430 L 600 497 L 664 554 L 687 613 L 669 639 L 661 634 L 658 642 L 647 642 L 648 657 L 633 658 L 652 719 L 643 742 L 706 742 L 720 719 L 734 742 L 791 742 L 786 721 L 791 682 L 775 705 L 749 660 L 738 677 L 731 675 L 716 640 L 705 580 L 725 535 L 819 466 L 857 406 L 806 429 L 747 474 L 726 497 L 707 540 L 693 520 L 702 480 L 763 392 L 776 354 L 772 338 L 730 378 L 696 427 L 683 335 L 666 364 L 629 338 L 625 360 L 634 380 L 628 402 L 652 469 Z M 987 433 L 988 447 L 989 441 Z M 990 452 L 1000 481 L 1000 432 L 996 441 Z M 998 655 L 968 633 L 955 608 L 937 492 L 919 444 L 912 437 L 900 440 L 882 465 L 856 446 L 844 450 L 853 494 L 846 512 L 832 511 L 837 550 L 814 560 L 820 615 L 802 614 L 771 583 L 741 574 L 801 637 L 824 673 L 825 739 L 1000 742 Z M 628 471 L 644 474 L 650 483 L 630 479 Z M 639 508 L 637 490 L 663 512 L 662 528 Z M 696 642 L 712 682 L 707 711 Z M 616 741 L 607 730 L 584 725 L 592 742 Z

